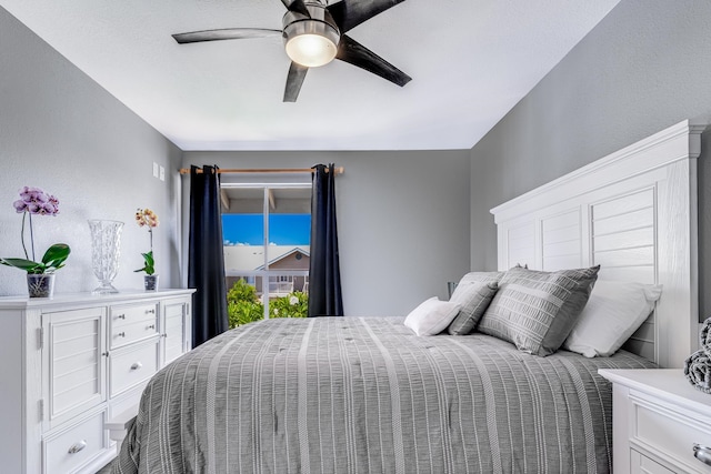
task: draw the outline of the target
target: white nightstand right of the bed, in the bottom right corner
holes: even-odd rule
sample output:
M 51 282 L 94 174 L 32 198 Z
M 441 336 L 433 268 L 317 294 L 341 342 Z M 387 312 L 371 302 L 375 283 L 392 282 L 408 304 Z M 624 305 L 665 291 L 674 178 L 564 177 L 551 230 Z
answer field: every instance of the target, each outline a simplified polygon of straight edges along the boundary
M 680 369 L 600 370 L 613 383 L 613 472 L 711 473 L 711 395 Z M 703 450 L 707 447 L 707 450 Z

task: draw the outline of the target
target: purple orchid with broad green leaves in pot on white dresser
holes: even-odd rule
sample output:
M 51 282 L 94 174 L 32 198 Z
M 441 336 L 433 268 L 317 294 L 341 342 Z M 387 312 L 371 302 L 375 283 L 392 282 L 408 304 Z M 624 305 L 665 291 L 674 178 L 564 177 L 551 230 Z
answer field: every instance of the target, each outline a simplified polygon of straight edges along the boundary
M 54 291 L 54 272 L 64 266 L 71 250 L 66 243 L 51 245 L 39 262 L 34 256 L 34 231 L 32 215 L 57 215 L 59 201 L 39 188 L 24 186 L 20 190 L 20 199 L 12 203 L 14 210 L 22 214 L 22 231 L 20 238 L 24 259 L 0 258 L 0 264 L 14 266 L 27 272 L 28 292 L 30 297 L 51 297 Z M 29 220 L 30 250 L 32 260 L 24 243 L 26 221 Z

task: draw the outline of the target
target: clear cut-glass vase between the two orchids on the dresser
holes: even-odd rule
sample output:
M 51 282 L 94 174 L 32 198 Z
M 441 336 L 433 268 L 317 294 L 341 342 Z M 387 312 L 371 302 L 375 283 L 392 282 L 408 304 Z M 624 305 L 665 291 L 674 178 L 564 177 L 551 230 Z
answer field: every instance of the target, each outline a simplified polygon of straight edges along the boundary
M 92 293 L 118 293 L 111 282 L 119 272 L 119 255 L 121 253 L 121 229 L 123 222 L 90 220 L 91 231 L 91 268 L 99 279 L 100 285 Z

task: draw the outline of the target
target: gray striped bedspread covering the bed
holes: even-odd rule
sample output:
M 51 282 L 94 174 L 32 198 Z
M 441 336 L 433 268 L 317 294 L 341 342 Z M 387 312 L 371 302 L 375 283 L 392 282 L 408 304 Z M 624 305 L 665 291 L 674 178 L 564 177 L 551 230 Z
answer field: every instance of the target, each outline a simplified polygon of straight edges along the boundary
M 604 473 L 612 401 L 597 371 L 651 366 L 418 337 L 393 317 L 268 320 L 159 372 L 113 472 Z

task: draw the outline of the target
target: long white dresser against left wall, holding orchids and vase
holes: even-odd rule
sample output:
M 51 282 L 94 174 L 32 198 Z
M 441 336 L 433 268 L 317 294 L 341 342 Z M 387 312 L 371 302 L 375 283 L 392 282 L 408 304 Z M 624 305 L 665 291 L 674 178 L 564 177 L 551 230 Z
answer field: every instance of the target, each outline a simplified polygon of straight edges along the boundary
M 93 474 L 114 457 L 107 425 L 190 350 L 192 292 L 0 297 L 0 472 Z

